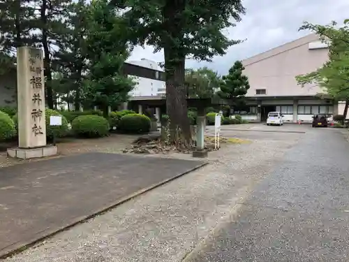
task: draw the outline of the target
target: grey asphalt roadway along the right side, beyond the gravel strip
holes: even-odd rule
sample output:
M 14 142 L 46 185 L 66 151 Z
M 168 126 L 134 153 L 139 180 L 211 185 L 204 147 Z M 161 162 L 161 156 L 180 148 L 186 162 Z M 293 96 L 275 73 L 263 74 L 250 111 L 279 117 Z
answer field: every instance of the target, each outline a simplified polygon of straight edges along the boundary
M 348 261 L 348 159 L 340 131 L 309 130 L 184 261 Z

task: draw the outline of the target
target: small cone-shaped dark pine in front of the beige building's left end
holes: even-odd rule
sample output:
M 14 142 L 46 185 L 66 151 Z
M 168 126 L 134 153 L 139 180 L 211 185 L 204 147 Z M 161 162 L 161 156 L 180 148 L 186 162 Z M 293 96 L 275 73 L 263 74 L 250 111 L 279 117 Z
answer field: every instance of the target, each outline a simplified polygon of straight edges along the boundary
M 232 99 L 235 105 L 243 103 L 244 96 L 250 88 L 247 76 L 242 73 L 244 69 L 241 61 L 235 61 L 229 69 L 228 75 L 223 75 L 220 90 L 217 92 L 218 96 L 224 99 Z

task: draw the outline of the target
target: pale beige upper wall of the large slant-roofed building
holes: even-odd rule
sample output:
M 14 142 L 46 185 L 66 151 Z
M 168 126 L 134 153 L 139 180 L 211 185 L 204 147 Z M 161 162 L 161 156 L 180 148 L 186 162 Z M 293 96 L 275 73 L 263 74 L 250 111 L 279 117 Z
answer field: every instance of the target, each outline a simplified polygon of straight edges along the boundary
M 295 80 L 296 75 L 315 71 L 327 61 L 327 48 L 309 50 L 309 43 L 316 42 L 318 37 L 311 34 L 242 61 L 251 85 L 246 96 L 257 96 L 255 89 L 267 89 L 267 94 L 260 96 L 306 96 L 322 92 L 314 85 L 301 87 Z

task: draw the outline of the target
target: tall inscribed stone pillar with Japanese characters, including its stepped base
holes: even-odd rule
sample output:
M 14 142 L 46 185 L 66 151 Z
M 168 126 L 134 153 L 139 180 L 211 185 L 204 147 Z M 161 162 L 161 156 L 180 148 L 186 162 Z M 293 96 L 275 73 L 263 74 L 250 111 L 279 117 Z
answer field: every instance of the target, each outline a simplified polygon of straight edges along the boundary
M 45 78 L 43 51 L 17 48 L 17 107 L 19 148 L 8 149 L 8 156 L 20 159 L 57 154 L 57 147 L 46 146 Z

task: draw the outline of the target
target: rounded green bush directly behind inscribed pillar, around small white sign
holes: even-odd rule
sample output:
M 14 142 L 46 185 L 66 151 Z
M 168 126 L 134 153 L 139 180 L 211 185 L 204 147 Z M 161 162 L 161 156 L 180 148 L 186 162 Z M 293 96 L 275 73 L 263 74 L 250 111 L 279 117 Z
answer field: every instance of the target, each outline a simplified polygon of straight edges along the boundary
M 50 116 L 61 116 L 62 124 L 61 126 L 50 126 Z M 13 122 L 15 123 L 15 129 L 18 130 L 18 115 L 13 116 Z M 63 138 L 68 134 L 68 121 L 64 115 L 61 115 L 60 112 L 52 109 L 45 109 L 45 122 L 46 122 L 46 137 L 52 139 L 53 136 L 57 138 Z

